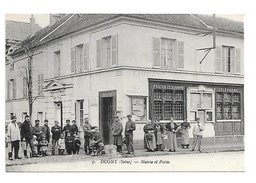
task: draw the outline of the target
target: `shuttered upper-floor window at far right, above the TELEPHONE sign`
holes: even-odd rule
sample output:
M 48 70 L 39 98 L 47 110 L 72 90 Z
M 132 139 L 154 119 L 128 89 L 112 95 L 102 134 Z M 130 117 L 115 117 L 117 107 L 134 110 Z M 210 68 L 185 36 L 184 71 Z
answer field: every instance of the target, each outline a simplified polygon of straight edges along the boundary
M 216 46 L 215 71 L 221 73 L 241 73 L 241 51 L 232 46 Z

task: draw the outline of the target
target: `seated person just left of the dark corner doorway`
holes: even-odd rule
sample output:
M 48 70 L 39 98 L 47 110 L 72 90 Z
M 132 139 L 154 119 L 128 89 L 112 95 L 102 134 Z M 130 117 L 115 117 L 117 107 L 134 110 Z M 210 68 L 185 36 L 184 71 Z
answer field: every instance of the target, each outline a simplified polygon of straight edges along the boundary
M 95 127 L 92 136 L 92 141 L 90 143 L 90 147 L 92 149 L 92 155 L 93 156 L 98 156 L 99 154 L 104 153 L 104 144 L 102 143 L 102 136 L 99 133 L 98 127 Z

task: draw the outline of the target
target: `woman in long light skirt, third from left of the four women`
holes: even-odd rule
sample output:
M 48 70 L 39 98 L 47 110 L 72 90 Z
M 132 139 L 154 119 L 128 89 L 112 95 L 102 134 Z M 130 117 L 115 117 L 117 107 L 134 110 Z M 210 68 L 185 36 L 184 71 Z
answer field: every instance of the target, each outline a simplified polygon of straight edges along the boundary
M 173 121 L 174 121 L 174 117 L 171 116 L 170 123 L 166 124 L 168 141 L 170 143 L 169 152 L 175 152 L 177 149 L 176 133 L 178 131 L 178 125 Z

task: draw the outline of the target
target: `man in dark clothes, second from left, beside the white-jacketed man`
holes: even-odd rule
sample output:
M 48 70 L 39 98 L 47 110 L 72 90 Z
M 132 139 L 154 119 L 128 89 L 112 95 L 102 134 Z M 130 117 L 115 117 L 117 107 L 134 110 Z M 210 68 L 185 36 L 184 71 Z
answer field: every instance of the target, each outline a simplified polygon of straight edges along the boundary
M 29 116 L 25 116 L 25 121 L 21 124 L 21 138 L 26 140 L 26 149 L 24 150 L 24 156 L 27 158 L 27 147 L 30 146 L 32 157 L 39 157 L 34 150 L 33 144 L 33 127 L 30 123 Z

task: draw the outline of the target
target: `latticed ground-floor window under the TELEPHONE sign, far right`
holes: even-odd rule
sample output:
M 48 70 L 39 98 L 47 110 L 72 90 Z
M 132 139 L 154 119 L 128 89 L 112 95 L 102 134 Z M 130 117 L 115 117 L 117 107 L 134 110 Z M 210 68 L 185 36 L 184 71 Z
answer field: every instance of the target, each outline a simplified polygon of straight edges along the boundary
M 240 119 L 240 93 L 216 93 L 216 114 L 218 120 Z

